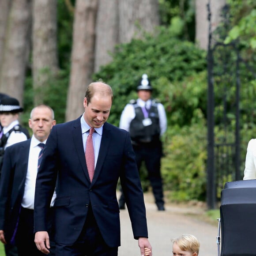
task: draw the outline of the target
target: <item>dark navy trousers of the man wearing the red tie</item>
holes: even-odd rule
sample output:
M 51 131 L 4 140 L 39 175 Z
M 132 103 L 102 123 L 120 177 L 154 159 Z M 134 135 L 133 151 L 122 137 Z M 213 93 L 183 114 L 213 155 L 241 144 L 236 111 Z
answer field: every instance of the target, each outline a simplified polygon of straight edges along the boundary
M 74 245 L 56 243 L 56 256 L 117 256 L 118 247 L 109 247 L 100 233 L 89 206 L 83 230 Z

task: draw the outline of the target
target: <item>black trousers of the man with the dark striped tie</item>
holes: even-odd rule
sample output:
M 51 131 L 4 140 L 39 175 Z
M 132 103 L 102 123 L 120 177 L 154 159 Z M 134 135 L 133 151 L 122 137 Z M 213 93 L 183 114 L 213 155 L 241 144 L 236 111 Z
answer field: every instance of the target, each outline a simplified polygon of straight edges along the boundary
M 15 241 L 19 256 L 45 256 L 38 250 L 34 242 L 34 210 L 21 207 Z M 48 256 L 54 256 L 55 245 L 52 241 L 50 247 Z

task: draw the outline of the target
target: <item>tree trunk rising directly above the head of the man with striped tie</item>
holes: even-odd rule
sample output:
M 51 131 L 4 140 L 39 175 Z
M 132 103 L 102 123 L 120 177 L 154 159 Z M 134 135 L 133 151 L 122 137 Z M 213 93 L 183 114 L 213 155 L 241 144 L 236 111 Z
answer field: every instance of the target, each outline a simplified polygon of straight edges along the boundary
M 34 104 L 44 102 L 44 88 L 58 69 L 57 1 L 34 0 L 33 5 L 33 87 Z

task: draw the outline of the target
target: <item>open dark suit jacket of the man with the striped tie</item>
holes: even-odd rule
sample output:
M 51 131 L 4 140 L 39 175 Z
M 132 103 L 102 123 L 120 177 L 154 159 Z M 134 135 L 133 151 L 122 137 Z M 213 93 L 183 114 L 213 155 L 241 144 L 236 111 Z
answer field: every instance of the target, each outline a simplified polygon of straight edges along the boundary
M 30 141 L 16 143 L 4 151 L 4 164 L 0 179 L 0 230 L 10 241 L 24 194 Z

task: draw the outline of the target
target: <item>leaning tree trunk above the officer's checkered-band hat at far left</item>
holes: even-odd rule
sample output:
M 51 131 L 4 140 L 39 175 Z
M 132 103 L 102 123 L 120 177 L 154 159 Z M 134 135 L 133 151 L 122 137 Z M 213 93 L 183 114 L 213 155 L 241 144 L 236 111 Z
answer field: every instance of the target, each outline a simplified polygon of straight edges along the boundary
M 29 45 L 32 0 L 12 0 L 5 33 L 0 91 L 23 103 L 23 90 Z

